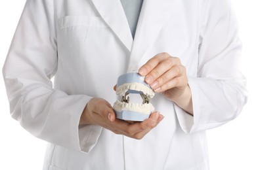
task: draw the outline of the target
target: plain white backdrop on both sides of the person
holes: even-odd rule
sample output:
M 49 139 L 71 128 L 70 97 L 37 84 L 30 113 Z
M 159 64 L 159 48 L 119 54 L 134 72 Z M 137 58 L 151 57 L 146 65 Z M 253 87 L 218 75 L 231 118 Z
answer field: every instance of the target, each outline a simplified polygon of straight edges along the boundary
M 25 0 L 0 1 L 0 67 L 3 67 Z M 241 69 L 249 100 L 232 122 L 207 131 L 211 170 L 256 169 L 256 2 L 233 0 L 244 44 Z M 13 120 L 0 77 L 0 169 L 41 169 L 46 143 Z M 74 169 L 75 170 L 75 169 Z

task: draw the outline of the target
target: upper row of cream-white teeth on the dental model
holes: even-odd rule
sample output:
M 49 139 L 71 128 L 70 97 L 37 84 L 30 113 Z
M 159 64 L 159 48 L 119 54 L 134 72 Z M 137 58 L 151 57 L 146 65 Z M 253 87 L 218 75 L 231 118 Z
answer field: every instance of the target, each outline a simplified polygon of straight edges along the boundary
M 137 82 L 125 83 L 125 84 L 122 84 L 121 86 L 118 86 L 116 88 L 116 94 L 124 95 L 125 92 L 127 92 L 128 90 L 135 90 L 138 92 L 142 92 L 150 98 L 154 97 L 154 95 L 155 95 L 155 92 L 151 88 L 149 88 L 148 86 L 145 86 L 144 84 L 140 84 Z

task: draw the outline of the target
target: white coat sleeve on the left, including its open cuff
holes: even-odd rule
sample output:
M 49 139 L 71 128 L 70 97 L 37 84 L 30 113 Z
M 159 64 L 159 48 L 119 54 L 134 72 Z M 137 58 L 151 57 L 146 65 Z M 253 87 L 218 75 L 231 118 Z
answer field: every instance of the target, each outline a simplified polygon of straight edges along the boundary
M 10 111 L 22 127 L 49 143 L 89 152 L 102 131 L 79 127 L 87 95 L 54 90 L 58 64 L 54 1 L 28 0 L 14 34 L 3 76 Z

